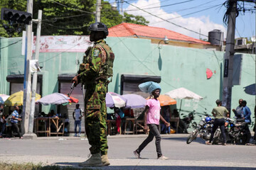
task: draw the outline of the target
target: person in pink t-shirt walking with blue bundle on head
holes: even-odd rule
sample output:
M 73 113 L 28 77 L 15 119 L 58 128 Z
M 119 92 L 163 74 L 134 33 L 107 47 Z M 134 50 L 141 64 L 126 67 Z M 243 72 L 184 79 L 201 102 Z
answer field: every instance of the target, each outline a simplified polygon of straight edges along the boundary
M 161 116 L 160 110 L 160 102 L 157 100 L 157 98 L 160 95 L 161 87 L 159 84 L 155 83 L 154 81 L 147 81 L 143 84 L 139 84 L 139 89 L 142 91 L 151 94 L 151 97 L 149 100 L 146 101 L 146 107 L 144 109 L 144 132 L 148 132 L 149 128 L 149 136 L 146 137 L 146 140 L 142 142 L 141 145 L 139 145 L 138 149 L 136 149 L 133 153 L 135 157 L 140 159 L 140 153 L 146 147 L 146 145 L 151 142 L 154 137 L 156 137 L 156 153 L 157 153 L 157 159 L 166 160 L 167 157 L 164 157 L 164 155 L 161 152 L 161 135 L 159 132 L 159 120 L 162 120 L 164 122 L 164 125 L 166 127 L 170 126 L 170 123 L 167 123 L 166 120 Z

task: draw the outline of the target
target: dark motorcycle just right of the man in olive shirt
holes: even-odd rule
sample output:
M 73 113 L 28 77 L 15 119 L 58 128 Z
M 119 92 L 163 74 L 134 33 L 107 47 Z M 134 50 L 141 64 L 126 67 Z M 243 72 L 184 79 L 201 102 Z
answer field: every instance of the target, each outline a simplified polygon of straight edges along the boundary
M 246 123 L 241 119 L 225 118 L 225 134 L 227 140 L 230 140 L 231 144 L 245 145 L 247 141 L 247 132 L 245 130 Z M 223 142 L 223 137 L 218 128 L 213 137 L 213 144 Z

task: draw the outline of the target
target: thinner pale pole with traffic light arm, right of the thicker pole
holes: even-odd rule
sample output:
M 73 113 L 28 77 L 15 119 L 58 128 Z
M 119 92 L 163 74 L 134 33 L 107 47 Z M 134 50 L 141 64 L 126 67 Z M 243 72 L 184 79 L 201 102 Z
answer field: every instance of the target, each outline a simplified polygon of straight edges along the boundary
M 40 37 L 41 37 L 41 21 L 42 21 L 42 10 L 38 10 L 38 19 L 33 20 L 37 23 L 36 30 L 36 55 L 33 57 L 33 60 L 38 60 L 39 58 L 39 47 L 40 47 Z M 33 123 L 34 123 L 34 115 L 35 115 L 35 101 L 36 101 L 36 86 L 37 86 L 37 72 L 33 73 L 33 81 L 32 81 L 32 95 L 31 95 L 31 114 L 29 115 L 29 123 L 28 123 L 28 135 L 30 138 L 36 139 L 36 134 L 33 133 Z

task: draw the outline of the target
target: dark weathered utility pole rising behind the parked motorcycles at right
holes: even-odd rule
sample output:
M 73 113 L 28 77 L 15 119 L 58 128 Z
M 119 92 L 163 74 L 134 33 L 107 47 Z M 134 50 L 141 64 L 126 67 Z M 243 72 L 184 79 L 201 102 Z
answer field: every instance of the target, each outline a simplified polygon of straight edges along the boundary
M 232 0 L 230 0 L 232 1 Z M 228 31 L 224 57 L 223 106 L 230 112 L 233 86 L 233 57 L 235 54 L 235 17 L 237 1 L 233 1 L 232 11 L 228 15 Z

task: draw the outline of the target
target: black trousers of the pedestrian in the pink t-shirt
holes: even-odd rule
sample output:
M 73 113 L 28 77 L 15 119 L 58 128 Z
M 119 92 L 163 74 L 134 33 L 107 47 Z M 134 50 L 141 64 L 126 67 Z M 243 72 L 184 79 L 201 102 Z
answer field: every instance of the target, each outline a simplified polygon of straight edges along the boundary
M 138 153 L 142 152 L 142 149 L 144 149 L 144 147 L 146 147 L 146 145 L 149 144 L 149 142 L 151 142 L 154 137 L 156 137 L 156 153 L 157 153 L 157 157 L 161 157 L 162 153 L 161 153 L 161 135 L 159 132 L 159 125 L 156 124 L 149 124 L 149 136 L 146 137 L 146 140 L 144 140 L 144 142 L 142 142 L 141 145 L 139 145 L 139 148 L 136 150 Z

